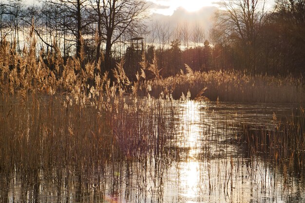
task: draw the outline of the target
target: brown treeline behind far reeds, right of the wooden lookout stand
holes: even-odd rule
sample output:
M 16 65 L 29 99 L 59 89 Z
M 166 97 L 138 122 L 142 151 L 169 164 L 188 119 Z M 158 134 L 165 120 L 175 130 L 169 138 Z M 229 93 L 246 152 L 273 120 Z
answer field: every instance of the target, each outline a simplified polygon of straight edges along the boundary
M 229 0 L 220 3 L 213 27 L 155 23 L 162 76 L 193 71 L 239 70 L 248 74 L 305 74 L 305 0 Z M 168 45 L 166 42 L 169 42 Z M 152 60 L 151 47 L 146 51 Z

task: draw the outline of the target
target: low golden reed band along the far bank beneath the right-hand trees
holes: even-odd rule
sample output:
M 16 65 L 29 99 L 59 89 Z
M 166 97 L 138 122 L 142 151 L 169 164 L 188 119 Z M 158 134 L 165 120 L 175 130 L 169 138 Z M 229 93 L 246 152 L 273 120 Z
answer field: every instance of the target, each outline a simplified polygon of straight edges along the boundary
M 177 99 L 183 92 L 192 98 L 205 96 L 211 101 L 304 103 L 303 77 L 248 75 L 239 71 L 193 72 L 186 66 L 186 73 L 155 80 L 152 95 L 170 92 Z M 204 91 L 202 91 L 204 90 Z

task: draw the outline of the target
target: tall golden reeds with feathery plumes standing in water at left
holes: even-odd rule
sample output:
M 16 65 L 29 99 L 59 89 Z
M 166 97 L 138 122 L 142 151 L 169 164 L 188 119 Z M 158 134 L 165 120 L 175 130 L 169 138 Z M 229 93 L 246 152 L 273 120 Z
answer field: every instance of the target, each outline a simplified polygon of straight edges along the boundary
M 64 65 L 56 48 L 46 58 L 37 53 L 33 33 L 28 44 L 20 54 L 14 44 L 0 44 L 0 202 L 9 202 L 17 180 L 26 185 L 17 202 L 35 200 L 29 194 L 50 183 L 102 188 L 111 177 L 117 187 L 123 168 L 139 163 L 139 174 L 157 168 L 151 173 L 158 182 L 172 162 L 172 99 L 137 97 L 123 61 L 111 81 L 95 72 L 100 61 L 70 58 Z

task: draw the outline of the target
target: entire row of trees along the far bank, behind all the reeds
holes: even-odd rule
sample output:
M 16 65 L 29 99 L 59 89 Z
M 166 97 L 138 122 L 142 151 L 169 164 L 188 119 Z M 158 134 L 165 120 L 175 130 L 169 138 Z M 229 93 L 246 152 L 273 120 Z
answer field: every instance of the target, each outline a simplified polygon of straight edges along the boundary
M 124 58 L 125 72 L 132 80 L 141 72 L 143 53 L 147 63 L 156 60 L 162 77 L 184 71 L 185 64 L 201 72 L 304 74 L 305 0 L 266 5 L 264 0 L 223 1 L 213 27 L 204 30 L 200 25 L 170 22 L 146 26 L 145 0 L 46 0 L 37 5 L 11 0 L 0 5 L 0 38 L 22 53 L 33 26 L 47 65 L 47 56 L 56 47 L 64 64 L 72 57 L 83 66 L 95 61 L 100 64 L 95 71 L 101 73 L 111 73 Z M 144 37 L 144 50 L 130 46 L 132 37 Z

